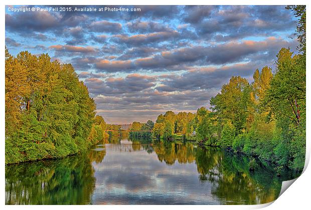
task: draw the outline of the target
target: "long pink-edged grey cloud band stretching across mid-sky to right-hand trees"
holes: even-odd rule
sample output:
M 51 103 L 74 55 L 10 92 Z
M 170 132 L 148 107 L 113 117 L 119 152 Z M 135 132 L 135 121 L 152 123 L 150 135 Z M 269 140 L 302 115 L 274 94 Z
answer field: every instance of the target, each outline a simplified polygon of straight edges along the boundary
M 244 40 L 208 46 L 192 45 L 162 52 L 158 52 L 159 49 L 152 47 L 134 47 L 119 57 L 110 55 L 106 58 L 93 57 L 79 60 L 84 62 L 82 65 L 93 66 L 102 72 L 135 72 L 141 69 L 187 70 L 191 68 L 191 63 L 192 66 L 250 61 L 266 61 L 267 64 L 271 64 L 274 59 L 274 56 L 271 56 L 276 54 L 281 47 L 295 44 L 295 40 L 286 41 L 281 38 L 268 37 L 262 41 Z M 63 46 L 55 47 L 59 47 L 59 50 L 63 49 Z M 114 50 L 114 48 L 112 49 Z M 111 50 L 108 50 L 107 53 L 111 54 Z M 150 56 L 150 54 L 152 55 Z

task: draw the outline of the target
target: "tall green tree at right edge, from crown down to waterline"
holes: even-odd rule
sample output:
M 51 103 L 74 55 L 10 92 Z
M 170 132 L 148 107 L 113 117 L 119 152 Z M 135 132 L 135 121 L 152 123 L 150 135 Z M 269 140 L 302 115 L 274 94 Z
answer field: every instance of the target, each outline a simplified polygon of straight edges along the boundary
M 301 54 L 293 55 L 289 48 L 277 54 L 276 70 L 268 89 L 264 108 L 271 120 L 281 128 L 274 148 L 280 165 L 301 169 L 305 157 L 305 63 Z

